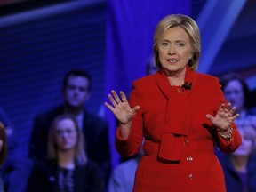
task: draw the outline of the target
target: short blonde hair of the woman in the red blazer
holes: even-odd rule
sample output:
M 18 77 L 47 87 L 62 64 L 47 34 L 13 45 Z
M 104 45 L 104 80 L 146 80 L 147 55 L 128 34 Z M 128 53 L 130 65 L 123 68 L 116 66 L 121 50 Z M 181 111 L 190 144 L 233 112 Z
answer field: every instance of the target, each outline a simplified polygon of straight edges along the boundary
M 158 44 L 164 33 L 169 28 L 180 27 L 183 28 L 189 36 L 189 42 L 192 47 L 192 58 L 188 60 L 188 66 L 191 70 L 196 71 L 198 68 L 198 62 L 201 55 L 201 37 L 200 31 L 196 24 L 196 21 L 190 17 L 182 14 L 171 14 L 164 17 L 156 26 L 154 36 L 153 51 L 155 54 L 156 67 L 162 68 L 159 60 Z

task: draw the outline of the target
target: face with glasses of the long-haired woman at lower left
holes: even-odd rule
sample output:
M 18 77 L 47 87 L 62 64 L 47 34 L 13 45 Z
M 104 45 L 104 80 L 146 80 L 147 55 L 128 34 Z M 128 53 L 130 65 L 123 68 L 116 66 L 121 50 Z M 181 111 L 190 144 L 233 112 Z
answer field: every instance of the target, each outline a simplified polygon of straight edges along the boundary
M 76 125 L 71 119 L 62 119 L 56 124 L 55 140 L 60 151 L 75 149 L 77 142 Z

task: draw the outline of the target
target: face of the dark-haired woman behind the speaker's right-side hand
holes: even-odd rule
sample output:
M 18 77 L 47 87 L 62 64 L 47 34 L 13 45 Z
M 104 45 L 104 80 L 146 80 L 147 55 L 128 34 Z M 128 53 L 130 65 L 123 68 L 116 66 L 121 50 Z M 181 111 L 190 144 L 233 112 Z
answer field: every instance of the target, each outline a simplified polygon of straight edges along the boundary
M 236 110 L 240 112 L 244 108 L 244 91 L 242 84 L 234 79 L 228 82 L 224 88 L 224 94 L 226 100 L 233 106 L 236 106 Z

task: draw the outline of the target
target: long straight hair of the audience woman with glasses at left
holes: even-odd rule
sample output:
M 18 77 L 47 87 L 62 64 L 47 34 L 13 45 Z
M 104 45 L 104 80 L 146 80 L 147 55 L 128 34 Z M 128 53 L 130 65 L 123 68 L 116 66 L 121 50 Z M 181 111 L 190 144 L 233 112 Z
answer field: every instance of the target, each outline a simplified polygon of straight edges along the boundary
M 76 126 L 76 132 L 77 132 L 77 142 L 76 142 L 76 149 L 75 149 L 75 161 L 77 164 L 86 164 L 88 161 L 88 158 L 86 156 L 85 150 L 84 150 L 84 135 L 83 132 L 80 131 L 79 126 L 76 121 L 75 116 L 71 116 L 69 114 L 56 116 L 53 121 L 52 125 L 50 127 L 49 135 L 48 135 L 48 158 L 53 161 L 57 161 L 57 146 L 56 146 L 56 128 L 57 124 L 60 122 L 60 120 L 63 119 L 70 119 L 74 122 Z

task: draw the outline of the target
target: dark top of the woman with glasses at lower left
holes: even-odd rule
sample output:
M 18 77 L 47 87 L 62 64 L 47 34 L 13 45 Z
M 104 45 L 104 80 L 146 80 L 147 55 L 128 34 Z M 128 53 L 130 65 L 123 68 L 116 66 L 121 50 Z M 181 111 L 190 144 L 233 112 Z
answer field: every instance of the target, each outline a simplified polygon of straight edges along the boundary
M 63 180 L 64 179 L 64 180 Z M 68 181 L 67 181 L 68 180 Z M 75 170 L 63 170 L 50 161 L 37 161 L 28 179 L 27 192 L 101 192 L 103 180 L 99 166 L 88 161 Z

